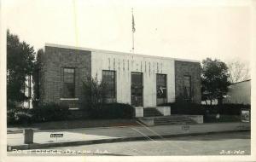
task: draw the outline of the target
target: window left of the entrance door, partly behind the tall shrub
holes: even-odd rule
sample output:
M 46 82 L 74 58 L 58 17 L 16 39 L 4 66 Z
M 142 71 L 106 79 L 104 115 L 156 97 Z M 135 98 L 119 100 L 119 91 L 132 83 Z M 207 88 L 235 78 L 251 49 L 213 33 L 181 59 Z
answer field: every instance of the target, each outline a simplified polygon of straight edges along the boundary
M 106 84 L 106 96 L 107 98 L 115 98 L 115 72 L 103 70 L 102 71 L 102 82 Z

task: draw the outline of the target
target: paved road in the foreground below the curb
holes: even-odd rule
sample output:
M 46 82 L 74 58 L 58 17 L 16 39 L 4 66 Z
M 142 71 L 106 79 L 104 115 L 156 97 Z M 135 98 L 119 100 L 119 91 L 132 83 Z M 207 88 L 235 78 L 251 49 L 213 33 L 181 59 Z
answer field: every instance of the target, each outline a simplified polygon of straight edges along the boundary
M 249 131 L 183 136 L 137 142 L 104 143 L 77 147 L 25 150 L 9 155 L 242 155 L 250 154 Z

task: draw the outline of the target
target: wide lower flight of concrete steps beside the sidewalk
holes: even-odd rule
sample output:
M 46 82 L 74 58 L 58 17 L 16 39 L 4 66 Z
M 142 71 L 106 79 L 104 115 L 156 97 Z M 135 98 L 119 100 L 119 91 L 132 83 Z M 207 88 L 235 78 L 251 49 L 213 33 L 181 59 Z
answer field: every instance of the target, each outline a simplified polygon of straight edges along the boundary
M 185 116 L 166 116 L 164 118 L 155 118 L 154 125 L 162 124 L 197 124 L 193 119 Z

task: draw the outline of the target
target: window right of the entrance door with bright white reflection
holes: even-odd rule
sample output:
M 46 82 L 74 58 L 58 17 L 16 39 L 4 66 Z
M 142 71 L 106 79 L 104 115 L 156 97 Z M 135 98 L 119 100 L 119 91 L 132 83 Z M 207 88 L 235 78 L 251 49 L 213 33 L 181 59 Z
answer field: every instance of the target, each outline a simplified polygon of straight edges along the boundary
M 166 98 L 166 74 L 156 74 L 157 98 Z

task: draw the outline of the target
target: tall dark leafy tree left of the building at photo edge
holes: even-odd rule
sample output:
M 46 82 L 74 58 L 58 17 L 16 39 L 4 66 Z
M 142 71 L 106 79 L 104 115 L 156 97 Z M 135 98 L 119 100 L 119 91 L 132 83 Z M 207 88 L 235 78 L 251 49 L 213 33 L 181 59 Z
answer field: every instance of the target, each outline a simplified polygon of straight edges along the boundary
M 7 101 L 8 107 L 26 101 L 26 76 L 32 74 L 34 49 L 26 42 L 20 42 L 17 35 L 7 31 Z

